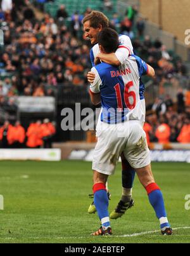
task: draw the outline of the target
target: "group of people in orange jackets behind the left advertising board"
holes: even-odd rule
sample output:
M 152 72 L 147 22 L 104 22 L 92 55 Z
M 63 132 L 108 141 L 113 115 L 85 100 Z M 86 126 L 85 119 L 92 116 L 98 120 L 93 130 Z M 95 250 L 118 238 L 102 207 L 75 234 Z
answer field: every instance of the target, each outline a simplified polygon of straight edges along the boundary
M 2 148 L 51 148 L 53 136 L 56 129 L 53 122 L 44 119 L 31 122 L 27 130 L 23 128 L 20 121 L 11 125 L 5 121 L 0 127 L 0 147 Z

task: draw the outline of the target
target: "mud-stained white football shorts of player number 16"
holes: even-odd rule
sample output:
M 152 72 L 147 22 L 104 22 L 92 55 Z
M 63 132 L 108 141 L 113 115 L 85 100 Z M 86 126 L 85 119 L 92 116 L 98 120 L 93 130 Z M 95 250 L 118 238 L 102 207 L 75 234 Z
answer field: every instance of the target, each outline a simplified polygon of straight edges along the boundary
M 92 170 L 112 175 L 122 152 L 135 169 L 151 163 L 146 133 L 140 121 L 129 120 L 117 125 L 99 122 L 96 136 L 98 142 L 94 149 Z

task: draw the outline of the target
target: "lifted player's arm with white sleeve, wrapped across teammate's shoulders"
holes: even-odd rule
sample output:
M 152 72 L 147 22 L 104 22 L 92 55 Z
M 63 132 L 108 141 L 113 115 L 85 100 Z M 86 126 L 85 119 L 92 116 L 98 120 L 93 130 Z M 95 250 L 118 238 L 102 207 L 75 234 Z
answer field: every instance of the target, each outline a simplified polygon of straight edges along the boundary
M 129 36 L 120 36 L 120 44 L 118 49 L 115 53 L 98 53 L 96 56 L 94 63 L 98 60 L 106 62 L 107 64 L 111 65 L 122 65 L 125 63 L 125 60 L 133 53 L 132 43 L 130 41 Z

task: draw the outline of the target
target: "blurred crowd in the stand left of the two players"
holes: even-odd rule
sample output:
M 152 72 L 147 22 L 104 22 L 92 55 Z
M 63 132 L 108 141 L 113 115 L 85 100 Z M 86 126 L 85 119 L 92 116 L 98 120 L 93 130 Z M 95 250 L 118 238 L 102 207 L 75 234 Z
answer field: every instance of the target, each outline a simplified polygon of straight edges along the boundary
M 0 97 L 53 96 L 54 90 L 46 84 L 87 84 L 85 74 L 91 64 L 89 48 L 76 37 L 79 15 L 73 14 L 68 29 L 59 19 L 61 9 L 57 22 L 48 14 L 38 20 L 29 1 L 15 0 L 9 9 L 0 10 L 4 14 L 0 15 L 4 30 L 0 72 L 15 75 L 1 82 Z

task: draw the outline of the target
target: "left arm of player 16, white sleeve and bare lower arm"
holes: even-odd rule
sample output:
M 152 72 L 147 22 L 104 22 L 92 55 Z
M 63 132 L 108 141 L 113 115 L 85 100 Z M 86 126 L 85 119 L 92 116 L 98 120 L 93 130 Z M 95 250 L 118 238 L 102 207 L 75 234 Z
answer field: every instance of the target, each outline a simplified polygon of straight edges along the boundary
M 91 96 L 91 102 L 94 105 L 98 105 L 101 103 L 101 94 L 99 90 L 99 86 L 101 84 L 101 79 L 99 77 L 98 71 L 94 67 L 92 67 L 91 72 L 95 74 L 94 82 L 91 83 L 89 94 Z

